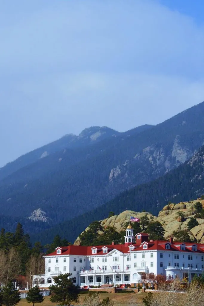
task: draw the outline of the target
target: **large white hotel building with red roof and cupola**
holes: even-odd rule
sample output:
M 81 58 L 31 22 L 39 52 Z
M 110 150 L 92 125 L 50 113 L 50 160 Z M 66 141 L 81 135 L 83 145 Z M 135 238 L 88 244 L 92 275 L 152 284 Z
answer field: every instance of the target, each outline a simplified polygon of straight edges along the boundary
M 137 284 L 146 274 L 164 275 L 167 279 L 192 277 L 204 271 L 204 244 L 170 241 L 148 241 L 148 234 L 133 235 L 126 229 L 124 244 L 57 247 L 44 256 L 45 274 L 40 287 L 54 284 L 54 277 L 72 273 L 79 286 L 103 284 Z M 34 285 L 38 276 L 34 276 Z

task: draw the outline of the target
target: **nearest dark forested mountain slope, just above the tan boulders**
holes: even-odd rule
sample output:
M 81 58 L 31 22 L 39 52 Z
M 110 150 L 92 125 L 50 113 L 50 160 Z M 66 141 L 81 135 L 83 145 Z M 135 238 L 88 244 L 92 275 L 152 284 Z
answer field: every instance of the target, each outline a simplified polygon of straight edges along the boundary
M 52 241 L 56 233 L 73 242 L 93 221 L 107 218 L 110 211 L 117 215 L 125 210 L 149 211 L 153 215 L 169 201 L 178 203 L 197 199 L 204 194 L 204 146 L 187 162 L 163 177 L 122 192 L 113 200 L 68 222 L 63 222 L 32 237 L 42 242 Z

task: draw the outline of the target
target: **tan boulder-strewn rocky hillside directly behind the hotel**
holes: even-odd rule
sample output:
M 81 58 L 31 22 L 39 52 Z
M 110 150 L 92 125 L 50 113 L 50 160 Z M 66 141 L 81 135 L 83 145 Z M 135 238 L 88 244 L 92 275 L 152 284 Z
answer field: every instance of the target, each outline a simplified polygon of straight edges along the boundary
M 180 230 L 187 231 L 187 223 L 189 222 L 190 218 L 193 217 L 192 215 L 192 207 L 194 207 L 196 202 L 202 203 L 202 207 L 204 208 L 204 200 L 198 198 L 194 201 L 189 202 L 181 202 L 178 204 L 170 204 L 163 207 L 162 211 L 159 212 L 158 216 L 153 216 L 148 212 L 136 212 L 136 211 L 123 211 L 119 215 L 112 216 L 110 218 L 106 218 L 101 221 L 102 227 L 106 228 L 107 226 L 113 226 L 116 228 L 117 232 L 121 232 L 124 230 L 124 226 L 130 220 L 130 216 L 141 218 L 144 215 L 147 215 L 148 218 L 153 217 L 153 221 L 159 221 L 163 228 L 165 229 L 164 237 L 165 239 L 169 239 L 173 237 L 173 232 L 179 232 Z M 184 215 L 184 220 L 180 221 L 178 218 L 178 211 L 182 212 Z M 197 218 L 196 219 L 199 223 L 198 226 L 195 226 L 190 231 L 190 237 L 193 240 L 198 242 L 204 243 L 204 219 Z M 89 227 L 86 228 L 88 230 Z M 136 234 L 136 233 L 135 233 Z M 175 237 L 174 237 L 175 240 Z M 75 245 L 80 245 L 79 237 L 74 242 Z

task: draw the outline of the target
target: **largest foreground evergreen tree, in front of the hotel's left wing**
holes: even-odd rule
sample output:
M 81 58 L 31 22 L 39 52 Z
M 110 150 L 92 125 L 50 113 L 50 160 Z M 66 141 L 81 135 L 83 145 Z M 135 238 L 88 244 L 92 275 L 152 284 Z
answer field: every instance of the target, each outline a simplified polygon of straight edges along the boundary
M 71 302 L 78 300 L 77 288 L 73 284 L 72 278 L 68 278 L 71 275 L 71 273 L 65 273 L 54 278 L 56 285 L 50 286 L 51 293 L 54 293 L 50 297 L 51 302 L 61 306 L 70 306 Z

